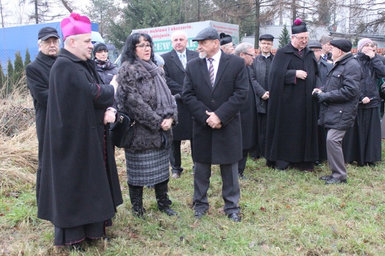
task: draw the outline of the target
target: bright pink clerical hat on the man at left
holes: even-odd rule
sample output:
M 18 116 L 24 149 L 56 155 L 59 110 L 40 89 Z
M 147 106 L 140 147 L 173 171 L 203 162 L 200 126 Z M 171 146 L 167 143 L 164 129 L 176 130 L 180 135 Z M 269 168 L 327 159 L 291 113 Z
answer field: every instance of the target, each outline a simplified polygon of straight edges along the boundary
M 91 33 L 91 22 L 87 16 L 72 12 L 68 18 L 64 18 L 60 23 L 62 28 L 63 40 L 69 35 L 79 35 Z

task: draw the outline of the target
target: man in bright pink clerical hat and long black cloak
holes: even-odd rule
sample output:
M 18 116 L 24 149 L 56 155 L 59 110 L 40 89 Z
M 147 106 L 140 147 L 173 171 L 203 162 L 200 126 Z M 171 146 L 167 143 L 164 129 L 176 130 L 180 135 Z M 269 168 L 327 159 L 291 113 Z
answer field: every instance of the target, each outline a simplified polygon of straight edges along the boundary
M 108 133 L 117 82 L 103 84 L 90 60 L 88 17 L 71 13 L 61 28 L 64 48 L 49 77 L 37 216 L 53 223 L 54 245 L 81 250 L 80 241 L 104 237 L 123 202 Z

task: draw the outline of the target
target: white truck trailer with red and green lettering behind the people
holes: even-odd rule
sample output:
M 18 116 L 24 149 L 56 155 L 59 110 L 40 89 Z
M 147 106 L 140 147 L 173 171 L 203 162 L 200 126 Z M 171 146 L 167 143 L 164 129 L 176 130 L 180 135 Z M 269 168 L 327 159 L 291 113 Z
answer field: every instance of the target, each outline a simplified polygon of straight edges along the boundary
M 155 28 L 143 28 L 143 29 L 134 29 L 132 33 L 146 33 L 152 37 L 154 43 L 154 52 L 159 54 L 168 52 L 172 50 L 171 45 L 171 34 L 172 32 L 183 30 L 186 31 L 188 36 L 188 45 L 189 50 L 197 49 L 198 43 L 192 42 L 191 40 L 204 28 L 211 26 L 218 30 L 218 33 L 225 33 L 233 37 L 233 43 L 238 45 L 239 42 L 239 25 L 215 22 L 215 21 L 204 21 L 204 22 L 192 22 L 185 24 L 177 24 L 170 26 L 162 26 Z

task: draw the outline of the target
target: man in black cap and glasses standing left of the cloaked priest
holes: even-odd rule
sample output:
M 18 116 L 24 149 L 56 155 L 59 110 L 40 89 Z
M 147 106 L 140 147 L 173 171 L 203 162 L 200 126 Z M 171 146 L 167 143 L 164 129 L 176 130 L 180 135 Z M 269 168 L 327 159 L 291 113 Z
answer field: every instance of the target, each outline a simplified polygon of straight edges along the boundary
M 256 56 L 253 61 L 253 68 L 256 78 L 257 92 L 257 110 L 258 110 L 258 125 L 259 139 L 257 144 L 251 148 L 250 155 L 252 159 L 258 159 L 265 154 L 266 144 L 266 125 L 267 125 L 267 103 L 268 103 L 268 72 L 273 61 L 274 36 L 271 34 L 263 34 L 259 37 L 259 48 L 261 53 Z

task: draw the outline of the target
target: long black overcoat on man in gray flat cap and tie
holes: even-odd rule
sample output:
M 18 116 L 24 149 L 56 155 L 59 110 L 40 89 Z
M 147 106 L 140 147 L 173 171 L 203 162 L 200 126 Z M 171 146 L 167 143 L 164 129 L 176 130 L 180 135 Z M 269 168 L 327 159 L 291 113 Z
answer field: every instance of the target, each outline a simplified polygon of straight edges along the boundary
M 214 87 L 210 83 L 205 58 L 194 58 L 187 63 L 182 100 L 194 117 L 194 161 L 232 164 L 242 159 L 239 111 L 247 93 L 248 77 L 243 58 L 222 51 Z M 206 110 L 214 111 L 219 117 L 220 129 L 207 125 Z

